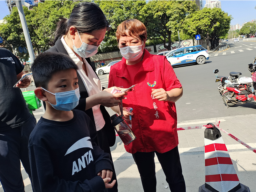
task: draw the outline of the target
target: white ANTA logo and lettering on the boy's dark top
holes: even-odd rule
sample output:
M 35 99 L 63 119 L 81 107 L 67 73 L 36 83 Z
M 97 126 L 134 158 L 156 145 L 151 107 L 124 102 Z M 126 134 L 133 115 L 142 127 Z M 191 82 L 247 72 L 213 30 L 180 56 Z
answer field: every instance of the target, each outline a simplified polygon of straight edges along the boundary
M 75 151 L 76 149 L 80 149 L 80 148 L 92 148 L 92 143 L 89 141 L 89 139 L 91 139 L 90 137 L 84 137 L 80 140 L 78 140 L 77 142 L 75 142 L 67 151 L 65 155 L 68 155 L 69 153 Z M 73 167 L 72 167 L 72 175 L 75 174 L 75 172 L 79 172 L 82 170 L 82 167 L 85 168 L 86 167 L 86 163 L 85 163 L 85 159 L 86 159 L 86 163 L 87 165 L 89 165 L 89 163 L 91 161 L 93 161 L 93 157 L 92 157 L 92 151 L 89 150 L 88 152 L 86 152 L 81 159 L 78 158 L 78 163 L 76 163 L 76 161 L 73 162 Z M 78 166 L 77 166 L 78 165 Z

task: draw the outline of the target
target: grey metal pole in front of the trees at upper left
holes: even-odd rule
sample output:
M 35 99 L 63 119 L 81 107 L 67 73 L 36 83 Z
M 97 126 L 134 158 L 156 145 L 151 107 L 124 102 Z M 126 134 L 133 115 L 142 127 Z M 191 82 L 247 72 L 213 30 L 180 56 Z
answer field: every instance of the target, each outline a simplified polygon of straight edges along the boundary
M 29 51 L 29 57 L 30 57 L 31 63 L 33 63 L 34 59 L 35 59 L 35 55 L 34 55 L 32 43 L 31 43 L 31 39 L 30 39 L 30 35 L 29 35 L 28 25 L 27 25 L 27 22 L 26 22 L 26 19 L 25 19 L 25 14 L 24 14 L 24 11 L 23 11 L 23 8 L 22 8 L 21 1 L 15 1 L 15 2 L 16 2 L 16 6 L 18 8 L 18 11 L 19 11 L 21 25 L 22 25 L 24 36 L 25 36 L 25 39 L 26 39 L 26 44 L 27 44 L 27 47 L 28 47 L 28 51 Z

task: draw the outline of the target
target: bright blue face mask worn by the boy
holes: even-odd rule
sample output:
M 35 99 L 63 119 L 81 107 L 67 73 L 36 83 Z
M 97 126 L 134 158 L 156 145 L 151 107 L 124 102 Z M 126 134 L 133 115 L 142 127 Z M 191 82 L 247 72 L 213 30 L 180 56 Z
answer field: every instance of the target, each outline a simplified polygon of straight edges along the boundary
M 42 88 L 42 89 L 47 91 L 44 88 Z M 49 91 L 47 91 L 47 92 L 49 92 Z M 51 93 L 51 92 L 49 92 L 49 93 Z M 56 105 L 51 104 L 49 101 L 48 101 L 48 103 L 50 103 L 52 105 L 52 107 L 56 110 L 71 111 L 79 103 L 79 98 L 80 98 L 79 88 L 77 88 L 73 91 L 51 93 L 51 94 L 55 95 Z

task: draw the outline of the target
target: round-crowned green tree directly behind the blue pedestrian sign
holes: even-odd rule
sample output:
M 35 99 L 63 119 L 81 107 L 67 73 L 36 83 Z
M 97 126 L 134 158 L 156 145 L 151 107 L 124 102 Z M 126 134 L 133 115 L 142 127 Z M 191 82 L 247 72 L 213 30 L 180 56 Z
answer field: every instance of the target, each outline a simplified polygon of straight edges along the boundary
M 225 35 L 229 30 L 232 16 L 219 8 L 204 8 L 192 13 L 184 22 L 184 31 L 190 35 L 200 34 L 206 39 L 207 49 L 209 42 L 213 47 L 214 40 Z

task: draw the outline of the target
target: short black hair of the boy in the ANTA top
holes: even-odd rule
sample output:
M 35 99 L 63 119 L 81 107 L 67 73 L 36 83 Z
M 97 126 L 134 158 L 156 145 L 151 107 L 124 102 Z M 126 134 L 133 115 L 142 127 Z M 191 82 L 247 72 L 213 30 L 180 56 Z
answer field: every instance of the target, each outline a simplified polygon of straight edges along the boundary
M 35 87 L 47 89 L 52 75 L 65 69 L 78 70 L 78 66 L 68 55 L 53 52 L 39 54 L 31 65 Z

